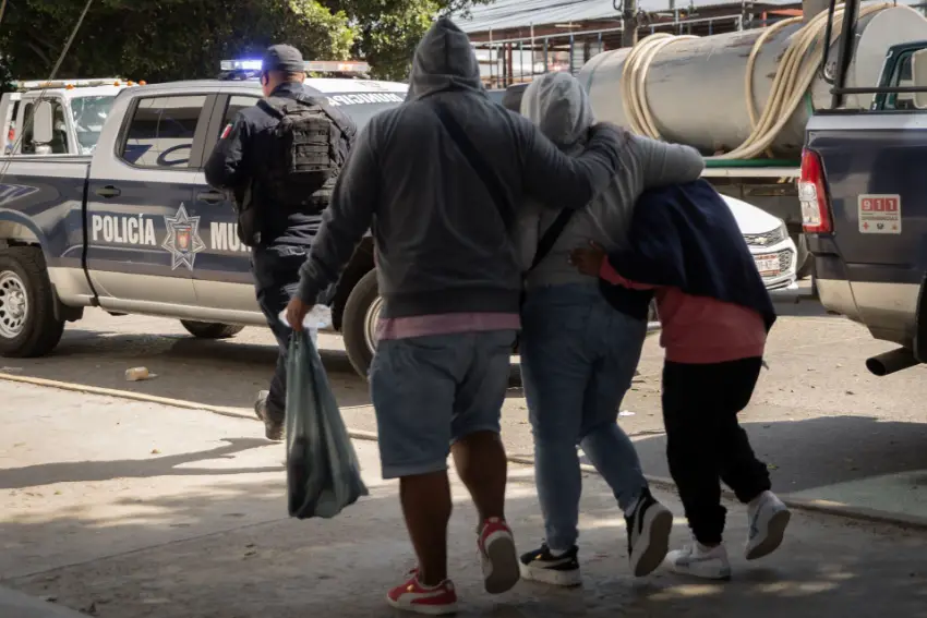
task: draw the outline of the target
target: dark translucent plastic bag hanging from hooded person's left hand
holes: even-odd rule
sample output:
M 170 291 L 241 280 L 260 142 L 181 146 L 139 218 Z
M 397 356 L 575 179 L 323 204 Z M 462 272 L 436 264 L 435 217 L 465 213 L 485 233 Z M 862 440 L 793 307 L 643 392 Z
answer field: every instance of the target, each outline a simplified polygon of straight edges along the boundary
M 368 495 L 322 359 L 306 331 L 290 338 L 286 434 L 290 517 L 333 518 Z

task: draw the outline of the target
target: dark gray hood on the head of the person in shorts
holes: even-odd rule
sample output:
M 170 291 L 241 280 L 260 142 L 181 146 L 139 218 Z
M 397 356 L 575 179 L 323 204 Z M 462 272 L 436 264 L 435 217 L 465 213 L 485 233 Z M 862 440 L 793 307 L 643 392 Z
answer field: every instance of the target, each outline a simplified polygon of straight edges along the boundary
M 441 17 L 416 49 L 406 100 L 453 89 L 485 92 L 470 38 L 448 17 Z

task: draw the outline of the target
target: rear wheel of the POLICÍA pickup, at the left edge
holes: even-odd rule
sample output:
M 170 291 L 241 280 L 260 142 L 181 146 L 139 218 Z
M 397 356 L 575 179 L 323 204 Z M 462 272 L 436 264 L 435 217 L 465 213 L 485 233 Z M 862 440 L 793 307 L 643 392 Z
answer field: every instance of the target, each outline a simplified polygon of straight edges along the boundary
M 55 317 L 55 289 L 35 246 L 0 250 L 0 355 L 28 359 L 51 352 L 64 332 Z

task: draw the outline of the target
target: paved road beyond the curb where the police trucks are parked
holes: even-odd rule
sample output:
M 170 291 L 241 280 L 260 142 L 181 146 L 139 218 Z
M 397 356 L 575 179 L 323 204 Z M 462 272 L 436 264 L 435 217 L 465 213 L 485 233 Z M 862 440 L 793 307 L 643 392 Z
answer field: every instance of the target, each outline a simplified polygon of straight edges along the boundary
M 814 302 L 779 305 L 763 372 L 743 420 L 775 486 L 810 498 L 860 502 L 927 516 L 927 367 L 877 378 L 864 360 L 891 348 Z M 375 431 L 366 384 L 351 371 L 337 336 L 322 336 L 326 366 L 348 425 Z M 269 331 L 248 328 L 226 341 L 191 338 L 179 323 L 112 317 L 91 310 L 67 330 L 52 356 L 0 360 L 16 375 L 147 392 L 237 408 L 251 414 L 274 363 Z M 636 440 L 648 473 L 667 476 L 660 416 L 662 351 L 651 338 L 621 423 Z M 5 367 L 2 365 L 5 363 Z M 145 365 L 156 379 L 127 383 Z M 504 411 L 509 452 L 531 455 L 527 409 L 517 380 Z M 260 435 L 258 427 L 254 429 Z

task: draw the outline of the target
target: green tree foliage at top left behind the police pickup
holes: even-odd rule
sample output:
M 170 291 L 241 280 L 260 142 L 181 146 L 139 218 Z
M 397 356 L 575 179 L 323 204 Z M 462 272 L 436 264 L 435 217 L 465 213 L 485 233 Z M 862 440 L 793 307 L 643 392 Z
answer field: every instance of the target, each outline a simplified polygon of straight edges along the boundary
M 289 43 L 308 59 L 362 57 L 404 78 L 416 44 L 442 11 L 491 0 L 95 0 L 59 77 L 161 82 L 210 77 L 224 58 Z M 0 63 L 47 77 L 85 0 L 8 0 Z

